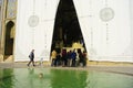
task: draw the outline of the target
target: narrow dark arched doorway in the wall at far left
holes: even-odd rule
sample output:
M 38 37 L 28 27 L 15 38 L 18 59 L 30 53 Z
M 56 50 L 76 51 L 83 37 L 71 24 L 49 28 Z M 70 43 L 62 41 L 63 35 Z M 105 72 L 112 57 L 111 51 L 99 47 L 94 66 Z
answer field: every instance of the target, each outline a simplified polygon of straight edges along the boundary
M 6 25 L 6 43 L 4 43 L 4 55 L 12 55 L 13 53 L 13 37 L 11 37 L 11 30 L 14 26 L 12 21 L 9 21 Z

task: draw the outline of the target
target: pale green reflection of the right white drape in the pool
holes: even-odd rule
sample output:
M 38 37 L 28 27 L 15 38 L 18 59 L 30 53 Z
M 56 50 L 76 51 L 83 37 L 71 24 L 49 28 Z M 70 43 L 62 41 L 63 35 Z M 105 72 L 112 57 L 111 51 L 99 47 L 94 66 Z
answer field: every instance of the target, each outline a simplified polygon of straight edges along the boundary
M 122 74 L 90 72 L 85 88 L 133 88 L 133 77 Z

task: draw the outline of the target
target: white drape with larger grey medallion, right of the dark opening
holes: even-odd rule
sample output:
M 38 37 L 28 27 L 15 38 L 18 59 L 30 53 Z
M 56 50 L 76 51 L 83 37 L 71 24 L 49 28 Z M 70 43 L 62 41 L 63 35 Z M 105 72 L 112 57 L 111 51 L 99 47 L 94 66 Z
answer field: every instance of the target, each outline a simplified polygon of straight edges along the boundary
M 74 0 L 74 4 L 90 61 L 133 62 L 132 0 Z

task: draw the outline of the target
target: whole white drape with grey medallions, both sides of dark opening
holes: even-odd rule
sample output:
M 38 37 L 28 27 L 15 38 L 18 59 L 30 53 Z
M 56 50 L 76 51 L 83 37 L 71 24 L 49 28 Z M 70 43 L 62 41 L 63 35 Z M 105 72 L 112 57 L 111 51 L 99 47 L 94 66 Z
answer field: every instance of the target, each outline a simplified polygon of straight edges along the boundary
M 133 1 L 73 0 L 90 61 L 133 62 Z M 59 0 L 18 0 L 16 61 L 49 59 Z M 33 15 L 33 16 L 32 16 Z

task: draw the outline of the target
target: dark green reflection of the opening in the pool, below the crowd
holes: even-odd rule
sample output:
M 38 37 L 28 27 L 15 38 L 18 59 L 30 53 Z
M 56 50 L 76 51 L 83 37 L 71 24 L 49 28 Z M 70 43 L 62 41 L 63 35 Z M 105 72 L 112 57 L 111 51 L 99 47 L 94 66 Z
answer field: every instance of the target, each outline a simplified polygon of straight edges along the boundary
M 52 88 L 85 88 L 88 72 L 51 69 Z

